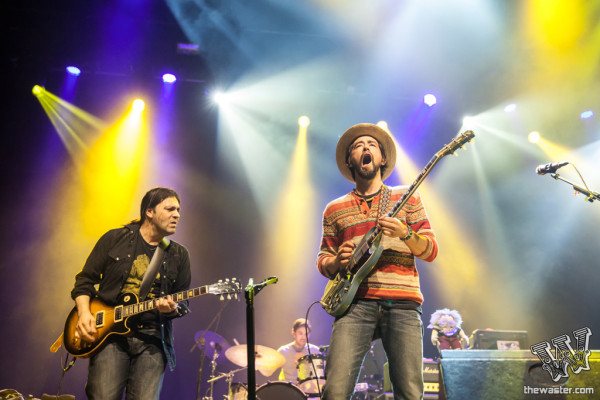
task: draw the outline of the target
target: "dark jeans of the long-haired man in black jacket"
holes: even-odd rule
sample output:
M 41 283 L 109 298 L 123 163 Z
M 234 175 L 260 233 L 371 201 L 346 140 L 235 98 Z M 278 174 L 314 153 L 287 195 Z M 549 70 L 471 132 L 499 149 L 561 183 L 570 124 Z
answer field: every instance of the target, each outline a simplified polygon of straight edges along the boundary
M 127 400 L 157 400 L 165 366 L 160 341 L 116 337 L 90 358 L 85 393 L 90 400 L 121 400 L 127 388 Z

